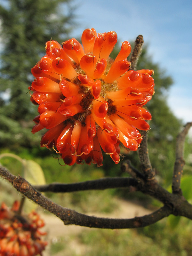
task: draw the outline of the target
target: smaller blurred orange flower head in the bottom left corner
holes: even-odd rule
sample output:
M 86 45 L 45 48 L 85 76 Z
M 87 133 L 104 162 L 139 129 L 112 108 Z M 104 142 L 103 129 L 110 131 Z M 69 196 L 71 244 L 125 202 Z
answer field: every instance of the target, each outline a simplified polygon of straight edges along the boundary
M 20 203 L 15 201 L 10 210 L 5 203 L 0 209 L 0 255 L 42 255 L 47 242 L 41 240 L 45 232 L 39 231 L 44 221 L 36 212 L 18 215 Z

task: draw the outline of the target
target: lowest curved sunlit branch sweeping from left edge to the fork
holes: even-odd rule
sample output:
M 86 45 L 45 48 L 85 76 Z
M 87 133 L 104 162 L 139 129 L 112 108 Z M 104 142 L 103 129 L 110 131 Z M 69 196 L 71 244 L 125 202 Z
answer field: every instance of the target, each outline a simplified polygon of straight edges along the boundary
M 5 168 L 2 167 L 1 176 L 4 178 L 7 177 L 7 180 L 12 183 L 14 188 L 34 201 L 36 204 L 42 206 L 47 211 L 55 214 L 64 222 L 65 225 L 75 224 L 90 228 L 94 227 L 110 229 L 138 228 L 153 224 L 156 221 L 168 216 L 172 212 L 169 207 L 164 206 L 151 214 L 142 217 L 135 217 L 132 219 L 108 219 L 88 216 L 86 214 L 78 213 L 74 210 L 64 208 L 58 204 L 53 203 L 50 199 L 34 189 L 25 179 L 20 176 L 16 177 L 10 174 Z

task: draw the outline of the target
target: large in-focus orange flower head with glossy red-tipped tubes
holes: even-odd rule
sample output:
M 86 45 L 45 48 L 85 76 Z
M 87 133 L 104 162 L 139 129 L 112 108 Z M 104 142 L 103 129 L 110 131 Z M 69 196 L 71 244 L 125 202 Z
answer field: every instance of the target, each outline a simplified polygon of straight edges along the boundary
M 143 106 L 154 94 L 153 70 L 129 70 L 131 45 L 124 41 L 115 60 L 114 31 L 85 29 L 75 39 L 48 41 L 46 55 L 31 69 L 31 101 L 39 116 L 32 132 L 49 129 L 41 147 L 53 148 L 64 163 L 102 165 L 102 150 L 118 164 L 122 144 L 136 151 L 148 130 L 150 113 Z

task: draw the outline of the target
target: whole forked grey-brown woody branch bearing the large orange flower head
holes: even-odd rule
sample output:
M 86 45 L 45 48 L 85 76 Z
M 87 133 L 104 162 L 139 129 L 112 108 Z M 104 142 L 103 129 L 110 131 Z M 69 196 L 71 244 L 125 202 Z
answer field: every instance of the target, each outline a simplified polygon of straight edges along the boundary
M 143 39 L 142 36 L 138 36 L 136 40 L 136 45 L 132 53 L 132 69 L 136 68 L 137 61 L 142 50 Z M 188 127 L 188 125 L 187 125 Z M 184 141 L 188 128 L 180 135 L 181 141 Z M 142 134 L 145 135 L 145 134 Z M 184 143 L 184 142 L 183 142 Z M 180 149 L 176 162 L 178 159 L 182 158 L 182 150 Z M 137 190 L 142 191 L 144 194 L 155 197 L 161 201 L 164 206 L 157 211 L 145 215 L 142 217 L 135 217 L 133 219 L 106 219 L 106 218 L 97 218 L 93 216 L 88 216 L 85 214 L 78 213 L 74 210 L 63 208 L 51 200 L 42 195 L 34 187 L 32 187 L 25 179 L 22 177 L 14 176 L 9 173 L 5 168 L 1 167 L 1 176 L 6 180 L 12 183 L 12 185 L 29 199 L 34 201 L 36 204 L 41 205 L 44 209 L 52 212 L 61 220 L 64 224 L 75 224 L 86 227 L 96 227 L 96 228 L 137 228 L 144 227 L 155 223 L 162 218 L 174 214 L 185 216 L 189 219 L 192 218 L 191 204 L 189 204 L 180 193 L 169 193 L 164 188 L 158 185 L 154 177 L 154 172 L 152 170 L 148 149 L 147 149 L 147 138 L 143 137 L 143 142 L 139 149 L 139 156 L 141 162 L 141 172 L 136 170 L 130 163 L 124 163 L 122 168 L 124 171 L 127 171 L 132 174 L 134 178 L 104 178 L 94 181 L 86 181 L 73 184 L 49 184 L 47 186 L 38 186 L 38 190 L 41 191 L 54 191 L 54 192 L 69 192 L 69 191 L 79 191 L 79 190 L 88 190 L 88 189 L 106 189 L 106 188 L 129 188 L 130 186 L 134 187 Z M 176 164 L 175 164 L 176 165 Z M 175 167 L 174 175 L 179 173 L 178 168 Z M 174 180 L 174 179 L 173 179 Z M 174 182 L 173 182 L 174 184 Z M 177 183 L 176 183 L 177 184 Z M 173 185 L 174 188 L 177 188 Z M 175 191 L 173 189 L 173 191 Z

